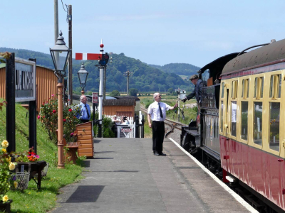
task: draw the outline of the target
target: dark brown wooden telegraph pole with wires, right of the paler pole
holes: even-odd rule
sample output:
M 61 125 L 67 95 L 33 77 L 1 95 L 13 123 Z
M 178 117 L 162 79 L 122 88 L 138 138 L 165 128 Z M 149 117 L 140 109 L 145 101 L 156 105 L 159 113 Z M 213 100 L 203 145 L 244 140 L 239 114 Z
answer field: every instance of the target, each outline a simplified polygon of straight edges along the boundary
M 68 62 L 68 104 L 72 104 L 72 5 L 68 5 L 68 48 L 71 49 L 71 57 Z

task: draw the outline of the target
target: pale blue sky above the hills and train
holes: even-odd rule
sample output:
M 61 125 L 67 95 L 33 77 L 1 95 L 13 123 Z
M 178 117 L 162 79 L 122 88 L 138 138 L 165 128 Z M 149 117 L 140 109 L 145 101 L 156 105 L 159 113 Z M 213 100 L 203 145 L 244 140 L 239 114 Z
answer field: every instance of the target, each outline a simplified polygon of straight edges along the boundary
M 124 53 L 152 65 L 204 67 L 252 45 L 285 38 L 284 0 L 62 0 L 72 5 L 75 53 Z M 54 1 L 0 1 L 0 47 L 48 53 L 54 45 Z M 68 44 L 66 11 L 58 28 Z

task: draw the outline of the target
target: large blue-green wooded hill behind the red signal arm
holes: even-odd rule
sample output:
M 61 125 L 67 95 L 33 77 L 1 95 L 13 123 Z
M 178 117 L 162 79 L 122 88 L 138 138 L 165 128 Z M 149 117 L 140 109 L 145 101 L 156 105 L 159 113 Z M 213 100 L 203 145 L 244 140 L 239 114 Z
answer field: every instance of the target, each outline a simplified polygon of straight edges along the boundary
M 51 55 L 45 53 L 39 53 L 31 50 L 23 49 L 11 49 L 11 48 L 0 48 L 0 52 L 9 51 L 15 53 L 16 57 L 19 58 L 36 58 L 37 64 L 43 67 L 48 67 L 53 69 L 53 62 L 51 60 Z M 123 72 L 130 70 L 133 72 L 133 76 L 130 77 L 130 87 L 138 89 L 140 92 L 150 92 L 150 91 L 163 91 L 167 92 L 168 89 L 186 89 L 190 91 L 192 84 L 182 80 L 175 72 L 164 72 L 162 69 L 157 69 L 138 59 L 130 58 L 124 55 L 124 53 L 113 54 L 113 62 L 108 63 L 107 67 L 107 85 L 106 90 L 108 92 L 113 90 L 126 91 L 127 79 L 123 75 Z M 79 60 L 73 59 L 73 91 L 80 92 L 81 87 L 79 87 L 79 80 L 77 72 L 80 70 L 81 62 Z M 89 72 L 88 80 L 86 83 L 86 92 L 96 92 L 98 91 L 98 68 L 95 65 L 98 61 L 85 61 L 84 62 L 86 70 Z M 172 64 L 170 64 L 172 65 Z M 170 70 L 165 67 L 165 70 Z M 175 67 L 175 66 L 173 66 Z

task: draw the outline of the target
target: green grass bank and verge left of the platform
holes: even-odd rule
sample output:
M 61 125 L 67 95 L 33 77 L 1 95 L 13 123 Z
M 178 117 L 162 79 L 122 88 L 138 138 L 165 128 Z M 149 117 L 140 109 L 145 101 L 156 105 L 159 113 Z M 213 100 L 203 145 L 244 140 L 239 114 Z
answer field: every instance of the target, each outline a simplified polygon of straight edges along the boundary
M 1 101 L 1 100 L 0 100 Z M 28 116 L 27 110 L 16 104 L 16 152 L 28 150 Z M 0 141 L 6 139 L 6 108 L 0 111 Z M 56 168 L 57 146 L 49 140 L 41 123 L 37 121 L 37 154 L 39 160 L 49 163 L 48 174 L 42 179 L 41 190 L 37 190 L 36 183 L 28 182 L 28 189 L 24 191 L 9 191 L 7 195 L 12 199 L 11 212 L 47 212 L 56 207 L 56 195 L 59 189 L 72 182 L 79 181 L 83 167 L 83 158 L 78 159 L 77 165 L 66 164 L 65 169 Z

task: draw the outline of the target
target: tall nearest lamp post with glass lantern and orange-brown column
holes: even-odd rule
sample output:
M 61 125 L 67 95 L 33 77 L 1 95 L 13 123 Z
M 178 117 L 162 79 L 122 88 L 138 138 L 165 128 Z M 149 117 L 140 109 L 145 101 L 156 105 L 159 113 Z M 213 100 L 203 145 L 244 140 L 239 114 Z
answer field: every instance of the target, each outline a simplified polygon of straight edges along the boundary
M 63 163 L 63 79 L 66 77 L 66 66 L 71 49 L 66 47 L 62 33 L 59 33 L 56 45 L 50 48 L 51 58 L 55 68 L 54 75 L 58 78 L 58 168 L 64 168 Z

